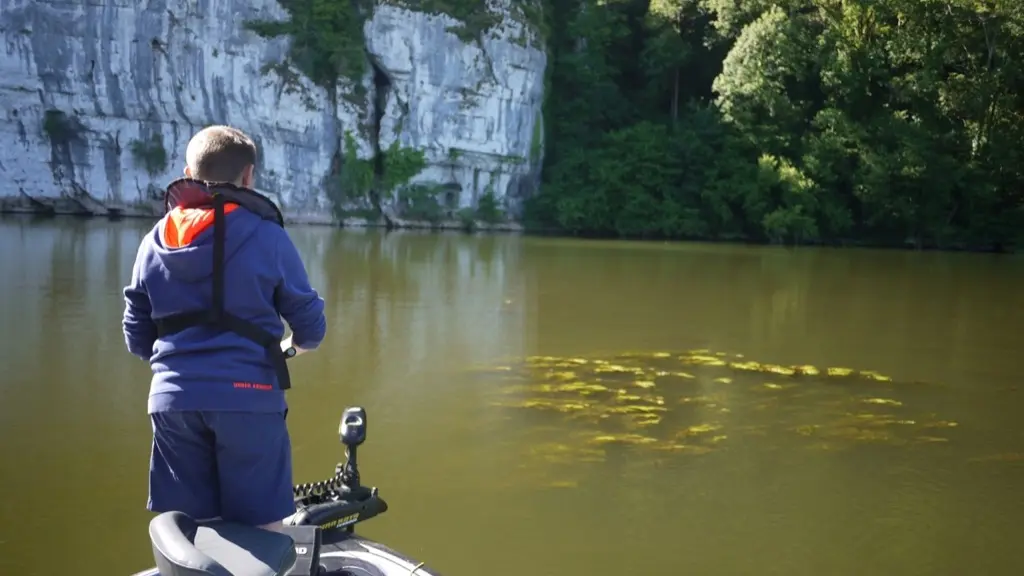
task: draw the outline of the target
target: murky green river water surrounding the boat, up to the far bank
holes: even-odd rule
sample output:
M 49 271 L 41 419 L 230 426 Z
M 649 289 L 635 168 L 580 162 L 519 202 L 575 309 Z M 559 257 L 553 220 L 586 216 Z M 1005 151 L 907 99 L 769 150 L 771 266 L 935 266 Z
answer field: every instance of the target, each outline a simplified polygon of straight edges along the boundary
M 0 574 L 152 565 L 148 227 L 0 219 Z M 366 407 L 357 530 L 445 576 L 1024 573 L 1024 260 L 291 234 L 329 315 L 296 481 Z

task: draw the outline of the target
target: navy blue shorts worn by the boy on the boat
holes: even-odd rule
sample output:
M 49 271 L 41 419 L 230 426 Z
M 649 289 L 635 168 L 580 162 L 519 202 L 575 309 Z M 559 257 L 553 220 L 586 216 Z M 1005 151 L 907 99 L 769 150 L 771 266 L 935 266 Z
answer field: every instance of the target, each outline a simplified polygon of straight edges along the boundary
M 270 524 L 295 512 L 286 413 L 158 412 L 150 502 L 155 512 Z

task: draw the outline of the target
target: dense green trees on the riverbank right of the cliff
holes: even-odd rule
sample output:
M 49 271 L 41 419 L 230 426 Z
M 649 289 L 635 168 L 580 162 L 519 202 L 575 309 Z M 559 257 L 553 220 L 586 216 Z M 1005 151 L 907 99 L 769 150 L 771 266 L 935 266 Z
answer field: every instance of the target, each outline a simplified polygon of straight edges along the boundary
M 1021 0 L 546 0 L 580 235 L 1024 244 Z

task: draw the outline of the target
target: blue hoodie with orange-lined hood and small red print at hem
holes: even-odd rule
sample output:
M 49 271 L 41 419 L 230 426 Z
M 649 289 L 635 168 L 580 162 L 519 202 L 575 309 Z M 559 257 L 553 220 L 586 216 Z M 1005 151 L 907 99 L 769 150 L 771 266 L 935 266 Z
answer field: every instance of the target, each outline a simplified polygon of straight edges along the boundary
M 224 307 L 281 339 L 312 349 L 327 332 L 324 300 L 285 229 L 233 204 L 225 207 Z M 213 276 L 213 211 L 175 208 L 142 239 L 124 289 L 125 343 L 153 368 L 148 410 L 278 412 L 287 408 L 260 345 L 195 327 L 157 337 L 154 318 L 207 310 Z M 276 299 L 276 306 L 274 300 Z

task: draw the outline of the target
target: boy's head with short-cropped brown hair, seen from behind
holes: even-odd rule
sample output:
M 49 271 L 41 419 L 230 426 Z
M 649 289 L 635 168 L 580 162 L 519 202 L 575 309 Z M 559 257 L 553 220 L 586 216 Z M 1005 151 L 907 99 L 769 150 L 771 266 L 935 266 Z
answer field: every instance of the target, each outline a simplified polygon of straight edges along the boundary
M 207 126 L 188 141 L 185 177 L 253 188 L 256 145 L 242 130 Z

